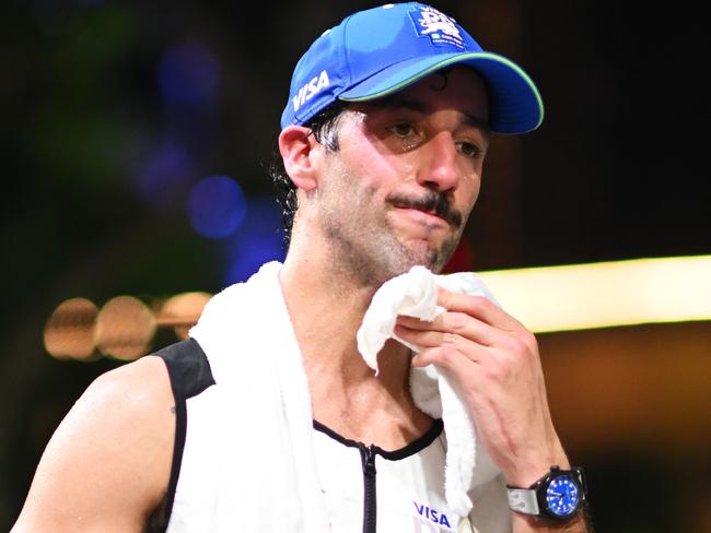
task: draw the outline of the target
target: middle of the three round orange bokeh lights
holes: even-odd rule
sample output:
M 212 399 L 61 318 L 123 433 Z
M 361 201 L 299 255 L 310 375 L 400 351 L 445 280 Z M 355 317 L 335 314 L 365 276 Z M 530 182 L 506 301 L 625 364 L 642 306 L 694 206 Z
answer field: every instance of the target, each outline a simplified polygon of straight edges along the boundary
M 145 304 L 133 296 L 117 296 L 96 317 L 96 347 L 117 359 L 137 359 L 148 353 L 155 327 L 155 317 Z

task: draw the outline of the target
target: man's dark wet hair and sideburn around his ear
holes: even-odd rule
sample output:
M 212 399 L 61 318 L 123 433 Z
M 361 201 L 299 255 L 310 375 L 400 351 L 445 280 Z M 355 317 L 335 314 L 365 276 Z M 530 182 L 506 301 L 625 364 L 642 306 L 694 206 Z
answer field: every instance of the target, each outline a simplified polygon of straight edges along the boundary
M 336 102 L 312 118 L 304 127 L 308 128 L 318 141 L 329 152 L 338 152 L 338 119 L 346 109 L 345 102 Z M 284 228 L 283 246 L 289 249 L 291 241 L 291 228 L 294 223 L 294 215 L 299 209 L 296 202 L 296 187 L 284 169 L 284 162 L 279 153 L 279 146 L 275 143 L 271 153 L 271 161 L 268 167 L 277 202 L 281 208 L 281 220 Z

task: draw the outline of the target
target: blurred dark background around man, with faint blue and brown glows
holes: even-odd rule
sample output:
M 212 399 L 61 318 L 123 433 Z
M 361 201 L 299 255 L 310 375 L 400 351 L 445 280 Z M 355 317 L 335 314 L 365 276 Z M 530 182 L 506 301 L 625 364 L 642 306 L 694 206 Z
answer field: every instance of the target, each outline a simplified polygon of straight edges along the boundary
M 0 8 L 0 530 L 59 421 L 124 364 L 50 357 L 53 310 L 78 296 L 151 306 L 214 293 L 281 259 L 266 166 L 291 70 L 324 29 L 377 4 Z M 458 268 L 711 253 L 709 33 L 696 3 L 432 4 L 522 64 L 546 105 L 538 131 L 494 139 Z M 174 339 L 159 327 L 149 348 Z M 597 530 L 711 531 L 711 323 L 539 339 Z

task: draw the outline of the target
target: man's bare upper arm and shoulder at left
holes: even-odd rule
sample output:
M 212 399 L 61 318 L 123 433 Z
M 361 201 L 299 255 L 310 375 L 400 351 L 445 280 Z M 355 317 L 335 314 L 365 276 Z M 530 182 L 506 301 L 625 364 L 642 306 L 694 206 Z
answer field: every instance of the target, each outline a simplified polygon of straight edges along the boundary
M 100 376 L 47 445 L 12 533 L 143 531 L 167 489 L 174 410 L 159 357 Z

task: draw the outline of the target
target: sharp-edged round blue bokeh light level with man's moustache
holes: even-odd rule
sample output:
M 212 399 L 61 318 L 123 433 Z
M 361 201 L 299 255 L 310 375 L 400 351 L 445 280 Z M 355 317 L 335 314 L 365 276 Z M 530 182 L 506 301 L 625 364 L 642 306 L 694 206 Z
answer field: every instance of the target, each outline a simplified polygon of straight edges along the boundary
M 220 239 L 232 235 L 245 217 L 247 203 L 240 185 L 228 176 L 209 176 L 190 190 L 188 216 L 196 233 Z

